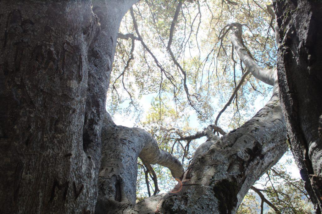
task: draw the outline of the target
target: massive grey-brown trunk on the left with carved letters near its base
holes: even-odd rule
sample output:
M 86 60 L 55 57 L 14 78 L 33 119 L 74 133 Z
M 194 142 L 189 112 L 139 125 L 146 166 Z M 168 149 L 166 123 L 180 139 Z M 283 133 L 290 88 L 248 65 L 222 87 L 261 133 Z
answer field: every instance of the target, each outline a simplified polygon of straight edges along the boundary
M 120 21 L 134 1 L 0 2 L 0 213 L 92 213 Z M 99 23 L 100 22 L 100 23 Z

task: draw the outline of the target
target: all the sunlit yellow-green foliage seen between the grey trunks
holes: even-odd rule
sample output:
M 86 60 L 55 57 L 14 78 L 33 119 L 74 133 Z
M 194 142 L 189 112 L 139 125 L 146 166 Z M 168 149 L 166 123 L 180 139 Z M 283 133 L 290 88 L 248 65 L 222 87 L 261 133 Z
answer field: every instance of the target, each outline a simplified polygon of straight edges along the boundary
M 214 123 L 247 68 L 234 51 L 226 24 L 243 24 L 245 48 L 262 68 L 276 65 L 274 18 L 269 0 L 141 0 L 123 18 L 110 79 L 107 108 L 111 115 L 135 117 L 159 147 L 187 167 L 203 140 L 178 141 Z M 179 5 L 179 7 L 178 7 Z M 177 20 L 174 20 L 176 9 Z M 172 27 L 171 27 L 172 26 Z M 175 26 L 175 27 L 174 27 Z M 173 30 L 173 34 L 171 33 Z M 269 98 L 271 88 L 251 75 L 224 111 L 218 125 L 241 126 Z M 151 98 L 152 96 L 152 98 Z M 147 108 L 146 98 L 151 100 Z M 144 110 L 146 109 L 146 110 Z M 148 110 L 147 110 L 148 109 Z M 263 194 L 282 213 L 310 213 L 302 180 L 279 164 L 260 178 Z M 169 170 L 153 166 L 161 192 L 175 185 Z M 138 161 L 137 200 L 155 186 Z M 274 187 L 274 188 L 273 188 Z M 153 191 L 152 191 L 153 192 Z M 152 194 L 152 193 L 151 193 Z M 265 205 L 265 211 L 272 213 Z M 257 213 L 260 199 L 249 191 L 238 213 Z

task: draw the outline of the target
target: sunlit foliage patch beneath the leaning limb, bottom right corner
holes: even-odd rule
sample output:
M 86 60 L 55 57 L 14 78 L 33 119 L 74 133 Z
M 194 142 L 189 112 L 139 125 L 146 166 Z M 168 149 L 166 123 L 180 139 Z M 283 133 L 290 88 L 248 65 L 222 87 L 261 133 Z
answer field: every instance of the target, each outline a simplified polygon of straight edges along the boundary
M 314 213 L 313 204 L 304 188 L 303 180 L 294 178 L 290 173 L 289 168 L 293 162 L 293 156 L 288 151 L 283 160 L 264 174 L 255 185 L 281 213 Z M 261 200 L 256 195 L 254 191 L 250 190 L 242 201 L 238 213 L 245 213 L 244 210 L 253 210 L 254 213 L 257 213 L 256 210 L 260 210 Z M 273 214 L 276 212 L 266 204 L 264 213 Z

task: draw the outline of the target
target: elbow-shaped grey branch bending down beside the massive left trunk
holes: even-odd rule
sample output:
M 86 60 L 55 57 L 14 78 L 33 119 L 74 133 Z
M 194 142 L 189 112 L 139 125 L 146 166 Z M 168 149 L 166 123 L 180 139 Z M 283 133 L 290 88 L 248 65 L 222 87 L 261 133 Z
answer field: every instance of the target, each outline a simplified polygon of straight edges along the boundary
M 116 202 L 135 203 L 137 158 L 144 163 L 168 167 L 174 178 L 184 173 L 182 164 L 160 150 L 156 140 L 143 129 L 117 126 L 106 113 L 102 129 L 102 161 L 96 213 L 106 213 Z

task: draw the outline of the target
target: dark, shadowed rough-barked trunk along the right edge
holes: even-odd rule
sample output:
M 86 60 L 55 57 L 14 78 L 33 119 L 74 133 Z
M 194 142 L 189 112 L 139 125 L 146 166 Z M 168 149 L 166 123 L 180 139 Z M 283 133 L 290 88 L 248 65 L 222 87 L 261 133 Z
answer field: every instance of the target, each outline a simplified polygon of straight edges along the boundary
M 322 2 L 278 0 L 278 77 L 289 141 L 317 213 L 322 209 Z

